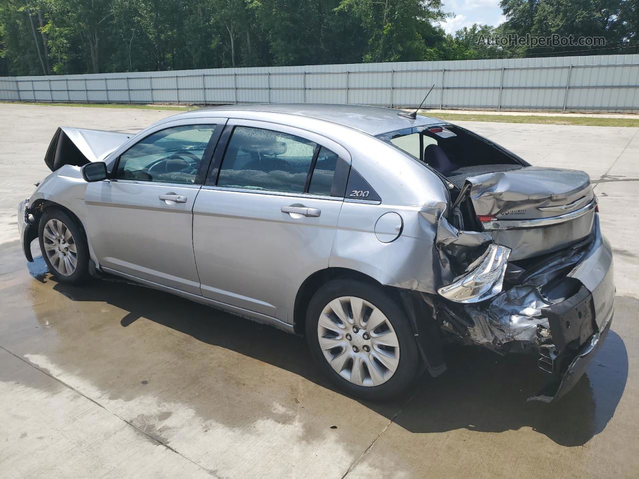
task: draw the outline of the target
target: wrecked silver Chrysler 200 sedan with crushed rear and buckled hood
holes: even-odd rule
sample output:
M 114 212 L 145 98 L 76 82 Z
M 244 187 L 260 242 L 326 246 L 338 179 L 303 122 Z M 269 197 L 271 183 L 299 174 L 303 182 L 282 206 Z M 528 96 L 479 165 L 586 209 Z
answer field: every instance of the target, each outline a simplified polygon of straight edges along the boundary
M 37 238 L 60 282 L 125 278 L 304 335 L 351 395 L 442 374 L 459 342 L 535 354 L 549 402 L 610 328 L 587 174 L 435 118 L 218 107 L 136 135 L 58 128 L 45 162 L 19 205 L 27 260 Z

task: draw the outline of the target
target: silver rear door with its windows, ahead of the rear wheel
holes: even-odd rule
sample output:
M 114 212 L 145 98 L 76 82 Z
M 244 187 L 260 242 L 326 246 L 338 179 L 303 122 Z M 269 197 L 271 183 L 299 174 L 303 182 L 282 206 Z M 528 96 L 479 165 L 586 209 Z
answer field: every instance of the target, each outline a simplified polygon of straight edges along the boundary
M 230 119 L 193 209 L 202 294 L 291 320 L 302 282 L 328 267 L 349 164 L 314 133 Z

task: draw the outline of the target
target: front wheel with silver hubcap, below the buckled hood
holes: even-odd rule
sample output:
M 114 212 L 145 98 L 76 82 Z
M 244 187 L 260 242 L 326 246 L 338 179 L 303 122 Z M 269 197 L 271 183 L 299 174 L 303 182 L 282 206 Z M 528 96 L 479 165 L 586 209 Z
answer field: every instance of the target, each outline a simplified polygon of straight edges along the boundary
M 64 211 L 45 209 L 38 232 L 49 271 L 60 282 L 82 282 L 88 273 L 89 250 L 75 221 Z

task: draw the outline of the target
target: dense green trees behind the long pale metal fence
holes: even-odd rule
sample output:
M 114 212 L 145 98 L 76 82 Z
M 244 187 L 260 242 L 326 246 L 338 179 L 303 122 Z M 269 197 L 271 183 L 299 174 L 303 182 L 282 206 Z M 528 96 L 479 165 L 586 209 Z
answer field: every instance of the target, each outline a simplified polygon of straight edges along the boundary
M 566 54 L 495 34 L 603 36 L 635 52 L 639 0 L 502 0 L 500 26 L 446 34 L 442 0 L 0 0 L 0 75 Z M 578 54 L 589 53 L 573 49 Z M 583 49 L 581 49 L 583 50 Z

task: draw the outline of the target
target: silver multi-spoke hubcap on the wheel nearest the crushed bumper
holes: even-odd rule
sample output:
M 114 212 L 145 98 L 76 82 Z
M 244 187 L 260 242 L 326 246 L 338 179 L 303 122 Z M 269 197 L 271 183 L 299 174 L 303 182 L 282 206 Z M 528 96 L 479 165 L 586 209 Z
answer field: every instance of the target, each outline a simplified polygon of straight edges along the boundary
M 399 341 L 389 319 L 355 296 L 330 301 L 321 312 L 318 339 L 328 364 L 358 386 L 379 386 L 399 365 Z

